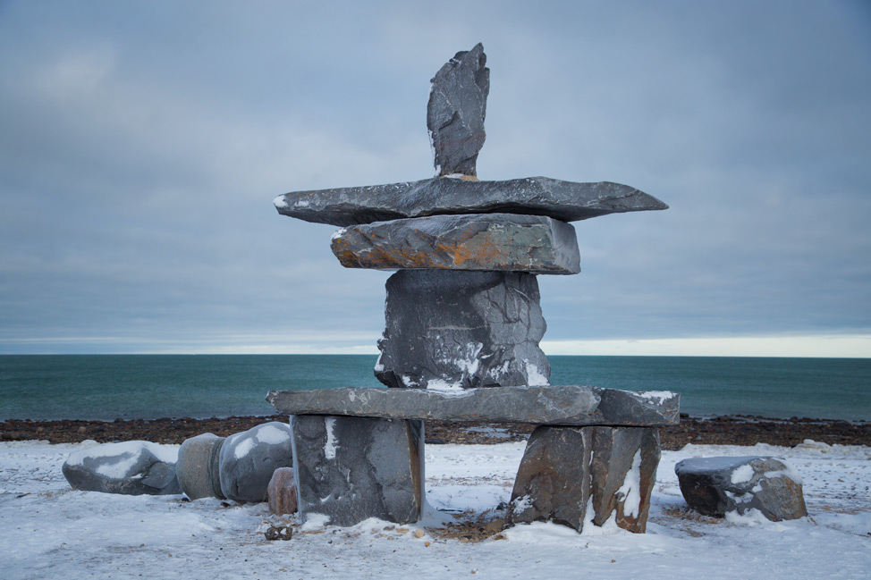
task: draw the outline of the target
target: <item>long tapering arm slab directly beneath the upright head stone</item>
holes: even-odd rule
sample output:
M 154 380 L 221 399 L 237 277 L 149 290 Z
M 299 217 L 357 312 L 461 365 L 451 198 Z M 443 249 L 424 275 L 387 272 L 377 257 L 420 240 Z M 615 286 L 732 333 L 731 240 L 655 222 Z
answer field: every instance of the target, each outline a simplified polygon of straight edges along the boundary
M 562 222 L 666 209 L 660 200 L 611 181 L 576 183 L 547 177 L 466 181 L 436 177 L 341 189 L 296 191 L 273 201 L 279 214 L 313 223 L 358 225 L 437 214 L 532 214 Z

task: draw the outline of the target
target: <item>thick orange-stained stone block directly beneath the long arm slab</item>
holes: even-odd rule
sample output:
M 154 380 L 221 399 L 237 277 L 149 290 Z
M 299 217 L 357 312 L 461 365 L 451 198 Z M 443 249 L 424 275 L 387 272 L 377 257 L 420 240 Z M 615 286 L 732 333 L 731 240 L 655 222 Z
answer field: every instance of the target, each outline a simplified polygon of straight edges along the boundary
M 333 236 L 346 268 L 580 272 L 575 229 L 542 215 L 433 215 L 351 226 Z

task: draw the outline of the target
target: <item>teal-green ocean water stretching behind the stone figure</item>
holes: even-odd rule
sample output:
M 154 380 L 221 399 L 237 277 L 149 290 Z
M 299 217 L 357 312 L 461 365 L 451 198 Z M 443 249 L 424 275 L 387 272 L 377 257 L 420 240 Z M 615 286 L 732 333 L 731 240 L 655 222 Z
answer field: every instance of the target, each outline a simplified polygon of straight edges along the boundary
M 268 391 L 383 386 L 374 355 L 0 356 L 0 420 L 272 415 Z M 548 357 L 552 384 L 678 391 L 692 416 L 871 420 L 871 359 Z

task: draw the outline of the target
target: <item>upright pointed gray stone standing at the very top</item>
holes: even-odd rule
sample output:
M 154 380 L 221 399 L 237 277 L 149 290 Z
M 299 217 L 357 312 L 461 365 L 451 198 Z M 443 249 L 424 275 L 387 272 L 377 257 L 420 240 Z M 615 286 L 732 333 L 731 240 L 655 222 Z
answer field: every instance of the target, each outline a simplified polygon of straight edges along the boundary
M 427 130 L 436 154 L 436 173 L 475 175 L 484 146 L 490 69 L 480 43 L 461 51 L 436 72 L 429 91 Z

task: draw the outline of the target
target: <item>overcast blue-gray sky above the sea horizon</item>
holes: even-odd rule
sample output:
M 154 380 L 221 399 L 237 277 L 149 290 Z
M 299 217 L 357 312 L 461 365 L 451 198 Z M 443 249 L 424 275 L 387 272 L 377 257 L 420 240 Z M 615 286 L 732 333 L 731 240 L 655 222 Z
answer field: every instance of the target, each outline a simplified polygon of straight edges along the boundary
M 0 1 L 0 353 L 376 352 L 389 273 L 300 189 L 431 177 L 482 42 L 481 179 L 617 181 L 539 276 L 549 354 L 871 356 L 871 4 Z

